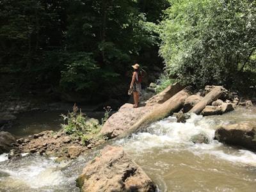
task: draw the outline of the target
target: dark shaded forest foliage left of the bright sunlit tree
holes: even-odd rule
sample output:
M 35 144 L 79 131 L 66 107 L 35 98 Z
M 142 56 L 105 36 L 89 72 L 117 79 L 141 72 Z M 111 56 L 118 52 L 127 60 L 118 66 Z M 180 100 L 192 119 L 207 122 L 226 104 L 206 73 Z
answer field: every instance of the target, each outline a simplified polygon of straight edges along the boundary
M 6 78 L 17 92 L 36 87 L 33 93 L 49 88 L 99 93 L 116 85 L 140 54 L 158 58 L 154 22 L 167 5 L 167 0 L 0 1 L 0 73 L 17 78 Z M 9 88 L 8 83 L 3 84 Z

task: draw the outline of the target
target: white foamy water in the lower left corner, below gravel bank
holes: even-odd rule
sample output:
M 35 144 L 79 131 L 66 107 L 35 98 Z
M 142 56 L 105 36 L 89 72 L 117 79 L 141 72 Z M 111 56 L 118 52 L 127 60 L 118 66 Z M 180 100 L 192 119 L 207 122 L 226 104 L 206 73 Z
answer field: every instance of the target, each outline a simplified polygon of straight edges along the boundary
M 61 171 L 65 163 L 41 156 L 23 157 L 0 166 L 0 191 L 58 191 L 70 180 Z M 72 185 L 75 179 L 72 179 Z M 72 187 L 74 188 L 74 187 Z

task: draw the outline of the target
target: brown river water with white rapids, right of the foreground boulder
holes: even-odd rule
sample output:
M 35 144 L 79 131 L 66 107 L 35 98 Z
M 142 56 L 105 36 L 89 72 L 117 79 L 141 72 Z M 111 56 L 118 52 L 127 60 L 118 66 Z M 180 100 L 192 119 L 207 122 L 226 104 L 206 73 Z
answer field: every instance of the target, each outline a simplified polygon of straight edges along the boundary
M 237 113 L 228 118 L 192 114 L 185 124 L 169 117 L 115 145 L 124 147 L 161 191 L 255 191 L 256 154 L 213 139 L 218 125 L 237 123 Z M 193 143 L 195 134 L 204 134 L 209 144 Z

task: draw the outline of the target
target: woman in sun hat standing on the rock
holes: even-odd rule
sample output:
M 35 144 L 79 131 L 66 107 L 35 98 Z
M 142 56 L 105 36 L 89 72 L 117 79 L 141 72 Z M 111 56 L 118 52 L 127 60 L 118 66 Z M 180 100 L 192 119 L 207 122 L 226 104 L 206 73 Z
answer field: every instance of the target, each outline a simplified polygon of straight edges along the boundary
M 137 83 L 138 76 L 140 73 L 140 65 L 134 64 L 132 65 L 133 73 L 132 73 L 132 81 L 130 84 L 130 89 L 132 89 L 132 95 L 134 99 L 134 106 L 133 108 L 138 108 L 139 105 L 139 99 L 140 99 L 140 90 L 141 90 L 141 83 Z

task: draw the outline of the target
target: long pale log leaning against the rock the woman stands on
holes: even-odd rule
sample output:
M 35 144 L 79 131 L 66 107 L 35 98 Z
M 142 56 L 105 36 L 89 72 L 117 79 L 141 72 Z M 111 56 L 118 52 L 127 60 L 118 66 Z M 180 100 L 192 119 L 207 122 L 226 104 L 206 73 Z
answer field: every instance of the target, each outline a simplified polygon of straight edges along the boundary
M 132 125 L 132 127 L 118 136 L 118 138 L 124 138 L 125 136 L 130 136 L 133 132 L 138 132 L 141 129 L 145 128 L 147 125 L 156 122 L 157 120 L 161 120 L 166 116 L 172 115 L 175 112 L 178 112 L 183 108 L 184 102 L 189 96 L 189 88 L 184 88 L 180 92 L 176 93 L 170 99 L 166 100 L 163 104 L 157 106 L 157 108 L 153 109 L 147 115 L 143 116 L 136 124 Z

